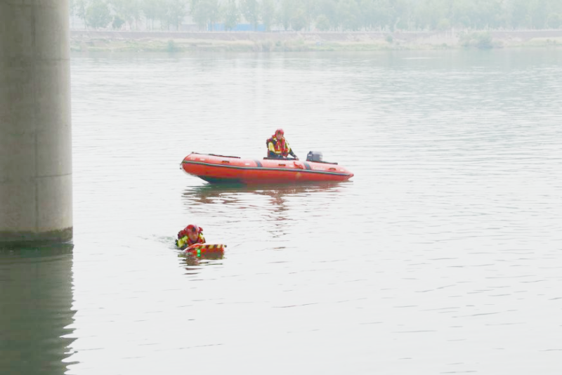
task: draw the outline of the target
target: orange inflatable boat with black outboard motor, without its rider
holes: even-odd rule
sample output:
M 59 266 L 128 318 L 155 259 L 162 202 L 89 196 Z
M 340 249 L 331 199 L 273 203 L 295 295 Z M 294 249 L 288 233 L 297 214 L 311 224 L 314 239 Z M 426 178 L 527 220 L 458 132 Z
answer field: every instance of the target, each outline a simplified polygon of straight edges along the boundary
M 344 181 L 353 173 L 337 163 L 322 162 L 322 153 L 309 152 L 306 160 L 242 159 L 217 154 L 188 154 L 181 169 L 208 183 L 305 183 Z

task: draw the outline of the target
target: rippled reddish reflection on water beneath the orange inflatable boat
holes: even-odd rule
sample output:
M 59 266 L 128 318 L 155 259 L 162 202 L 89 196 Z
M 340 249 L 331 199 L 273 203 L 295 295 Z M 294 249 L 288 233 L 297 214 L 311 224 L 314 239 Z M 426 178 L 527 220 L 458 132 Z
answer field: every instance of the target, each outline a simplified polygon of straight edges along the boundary
M 271 242 L 291 235 L 297 224 L 330 232 L 328 225 L 306 223 L 306 218 L 322 216 L 327 202 L 337 202 L 352 185 L 353 181 L 277 187 L 207 184 L 185 188 L 182 204 L 188 216 L 213 216 L 216 225 L 230 228 L 230 238 L 246 237 L 247 241 L 251 232 L 251 239 Z

